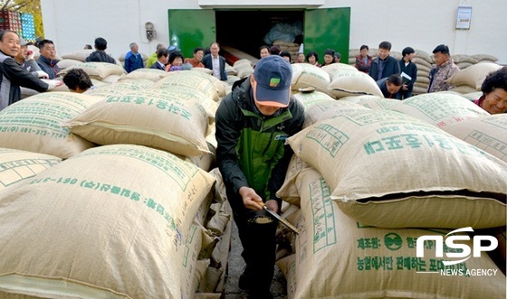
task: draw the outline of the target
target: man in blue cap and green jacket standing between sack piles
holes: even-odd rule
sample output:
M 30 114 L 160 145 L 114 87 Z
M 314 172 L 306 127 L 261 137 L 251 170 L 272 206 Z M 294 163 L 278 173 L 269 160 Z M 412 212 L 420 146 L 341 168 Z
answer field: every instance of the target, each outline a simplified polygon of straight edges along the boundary
M 289 62 L 263 57 L 250 77 L 234 83 L 215 116 L 216 162 L 244 248 L 239 287 L 254 298 L 273 298 L 277 222 L 260 203 L 280 213 L 282 200 L 275 193 L 293 154 L 285 140 L 304 121 L 301 103 L 291 98 L 291 81 Z

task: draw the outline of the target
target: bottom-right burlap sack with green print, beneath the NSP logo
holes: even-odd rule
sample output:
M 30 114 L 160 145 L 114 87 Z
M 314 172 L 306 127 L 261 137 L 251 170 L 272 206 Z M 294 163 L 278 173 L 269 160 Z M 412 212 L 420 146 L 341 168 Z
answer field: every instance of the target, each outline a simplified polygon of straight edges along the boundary
M 444 257 L 438 257 L 435 243 L 426 241 L 424 257 L 416 256 L 417 238 L 445 238 L 449 230 L 368 227 L 337 208 L 320 173 L 309 168 L 297 182 L 296 253 L 278 262 L 285 269 L 289 298 L 505 298 L 505 276 L 485 252 L 444 266 L 444 260 L 457 259 L 446 257 L 455 249 L 445 247 Z M 397 215 L 393 211 L 390 217 Z M 472 247 L 473 242 L 463 243 Z M 483 269 L 492 276 L 465 276 Z M 441 270 L 463 275 L 446 276 Z

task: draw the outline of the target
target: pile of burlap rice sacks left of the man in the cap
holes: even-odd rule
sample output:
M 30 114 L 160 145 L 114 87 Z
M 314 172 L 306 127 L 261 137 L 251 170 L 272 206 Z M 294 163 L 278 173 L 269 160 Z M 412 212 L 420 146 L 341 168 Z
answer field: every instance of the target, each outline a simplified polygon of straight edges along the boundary
M 72 67 L 116 67 L 90 64 Z M 0 111 L 2 298 L 221 296 L 232 224 L 212 78 L 136 70 Z

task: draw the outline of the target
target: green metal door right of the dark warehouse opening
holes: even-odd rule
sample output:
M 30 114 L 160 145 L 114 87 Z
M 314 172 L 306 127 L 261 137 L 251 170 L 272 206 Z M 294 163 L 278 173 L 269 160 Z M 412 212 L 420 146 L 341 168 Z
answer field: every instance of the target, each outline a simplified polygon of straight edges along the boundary
M 304 52 L 316 51 L 324 62 L 328 48 L 339 51 L 340 62 L 349 63 L 350 7 L 306 10 L 304 13 Z

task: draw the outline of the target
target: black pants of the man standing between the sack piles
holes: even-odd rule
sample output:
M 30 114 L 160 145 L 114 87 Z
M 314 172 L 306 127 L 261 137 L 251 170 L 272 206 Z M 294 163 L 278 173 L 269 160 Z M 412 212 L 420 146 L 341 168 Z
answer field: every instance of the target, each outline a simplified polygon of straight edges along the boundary
M 232 196 L 231 196 L 232 195 Z M 239 194 L 229 194 L 234 214 L 234 222 L 238 228 L 239 238 L 243 245 L 244 262 L 249 275 L 254 277 L 254 285 L 262 290 L 269 290 L 274 274 L 277 220 L 270 223 L 253 223 L 249 220 L 258 214 L 244 207 Z

